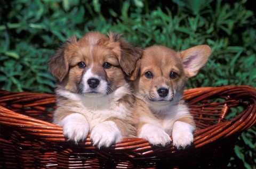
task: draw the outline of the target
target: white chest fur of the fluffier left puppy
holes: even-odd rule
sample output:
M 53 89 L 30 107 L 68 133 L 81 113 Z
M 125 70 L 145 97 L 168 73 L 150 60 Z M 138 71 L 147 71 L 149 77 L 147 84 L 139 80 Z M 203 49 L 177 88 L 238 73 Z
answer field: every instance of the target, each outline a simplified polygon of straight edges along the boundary
M 90 131 L 93 127 L 109 118 L 125 119 L 131 112 L 124 104 L 118 100 L 124 95 L 130 94 L 128 86 L 119 87 L 110 95 L 102 97 L 84 97 L 70 91 L 59 89 L 57 94 L 66 97 L 74 105 L 61 105 L 74 113 L 83 114 L 90 125 Z

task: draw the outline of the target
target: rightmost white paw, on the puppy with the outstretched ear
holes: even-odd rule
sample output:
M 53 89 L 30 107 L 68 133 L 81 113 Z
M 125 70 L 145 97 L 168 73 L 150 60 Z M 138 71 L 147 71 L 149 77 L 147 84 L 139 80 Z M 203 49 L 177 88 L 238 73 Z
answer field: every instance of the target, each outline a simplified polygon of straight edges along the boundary
M 193 131 L 195 130 L 195 127 L 185 123 L 177 121 L 173 124 L 172 129 L 172 139 L 173 139 L 173 145 L 177 147 L 178 149 L 186 148 L 193 142 Z

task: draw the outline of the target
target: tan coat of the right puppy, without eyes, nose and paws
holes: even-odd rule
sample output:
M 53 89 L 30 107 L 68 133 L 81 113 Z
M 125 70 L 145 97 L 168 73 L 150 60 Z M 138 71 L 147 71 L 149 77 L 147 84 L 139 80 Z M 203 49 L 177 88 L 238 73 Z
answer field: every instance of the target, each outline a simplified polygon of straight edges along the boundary
M 195 126 L 193 117 L 182 100 L 183 90 L 188 78 L 197 74 L 210 54 L 211 49 L 207 45 L 195 46 L 182 52 L 175 52 L 164 46 L 153 46 L 144 50 L 138 78 L 133 82 L 137 96 L 134 112 L 139 119 L 137 136 L 140 136 L 145 124 L 158 126 L 167 134 L 172 134 L 172 125 L 177 121 Z M 153 77 L 147 78 L 146 72 L 153 73 Z M 170 78 L 171 72 L 178 76 Z M 157 90 L 163 87 L 169 89 L 166 98 L 158 96 Z M 166 100 L 162 102 L 161 99 Z M 182 113 L 176 112 L 177 109 L 181 109 Z M 159 143 L 165 145 L 168 142 Z

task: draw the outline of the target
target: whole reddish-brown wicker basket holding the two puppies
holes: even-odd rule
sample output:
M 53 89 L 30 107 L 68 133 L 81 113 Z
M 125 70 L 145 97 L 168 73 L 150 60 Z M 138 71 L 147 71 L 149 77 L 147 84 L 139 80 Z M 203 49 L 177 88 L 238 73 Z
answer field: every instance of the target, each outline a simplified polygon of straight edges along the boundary
M 89 138 L 78 145 L 66 141 L 62 128 L 50 123 L 54 95 L 0 91 L 0 168 L 225 168 L 238 136 L 256 122 L 256 90 L 195 88 L 184 98 L 197 124 L 190 147 L 125 138 L 99 150 Z M 230 109 L 240 114 L 227 121 Z

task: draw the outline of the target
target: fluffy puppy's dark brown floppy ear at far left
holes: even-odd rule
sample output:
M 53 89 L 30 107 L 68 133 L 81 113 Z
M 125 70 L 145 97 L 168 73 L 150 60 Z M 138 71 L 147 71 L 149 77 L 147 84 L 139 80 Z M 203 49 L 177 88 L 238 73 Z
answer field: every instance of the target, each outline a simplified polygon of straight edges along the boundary
M 76 43 L 77 38 L 73 36 L 65 41 L 61 48 L 57 50 L 57 52 L 51 56 L 48 67 L 50 73 L 57 78 L 60 82 L 65 79 L 66 75 L 68 74 L 69 65 L 67 58 L 65 57 L 65 48 L 72 43 Z

